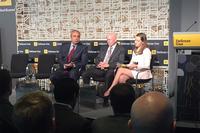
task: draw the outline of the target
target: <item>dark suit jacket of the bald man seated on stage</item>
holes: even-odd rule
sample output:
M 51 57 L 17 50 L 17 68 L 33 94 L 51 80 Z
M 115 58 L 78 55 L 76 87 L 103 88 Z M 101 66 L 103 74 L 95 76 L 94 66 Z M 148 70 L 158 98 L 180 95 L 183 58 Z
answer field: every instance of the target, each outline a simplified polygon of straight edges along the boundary
M 101 47 L 100 52 L 98 56 L 96 57 L 96 62 L 95 62 L 96 65 L 99 64 L 100 61 L 104 60 L 107 49 L 108 49 L 108 46 Z M 117 44 L 108 62 L 109 69 L 115 69 L 117 63 L 120 63 L 120 64 L 124 63 L 124 57 L 125 57 L 124 47 Z

